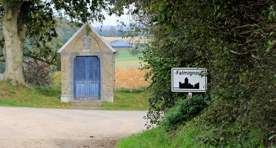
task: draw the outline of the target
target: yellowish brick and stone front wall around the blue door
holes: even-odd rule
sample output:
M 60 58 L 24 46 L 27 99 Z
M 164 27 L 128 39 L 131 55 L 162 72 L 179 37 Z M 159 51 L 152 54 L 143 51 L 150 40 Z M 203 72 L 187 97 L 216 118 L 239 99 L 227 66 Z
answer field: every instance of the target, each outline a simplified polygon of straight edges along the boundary
M 98 56 L 101 64 L 100 102 L 113 102 L 113 56 L 114 51 L 93 31 L 86 32 L 87 26 L 71 38 L 61 53 L 62 96 L 64 102 L 74 102 L 74 59 L 77 56 Z M 90 49 L 83 49 L 84 37 L 90 37 Z

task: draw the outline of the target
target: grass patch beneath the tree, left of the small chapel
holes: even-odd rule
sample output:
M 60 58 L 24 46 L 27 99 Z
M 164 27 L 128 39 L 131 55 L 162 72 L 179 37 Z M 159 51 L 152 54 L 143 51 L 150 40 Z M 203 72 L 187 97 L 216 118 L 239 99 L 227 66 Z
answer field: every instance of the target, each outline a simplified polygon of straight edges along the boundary
M 70 103 L 61 102 L 61 89 L 34 89 L 0 81 L 0 106 L 69 109 Z

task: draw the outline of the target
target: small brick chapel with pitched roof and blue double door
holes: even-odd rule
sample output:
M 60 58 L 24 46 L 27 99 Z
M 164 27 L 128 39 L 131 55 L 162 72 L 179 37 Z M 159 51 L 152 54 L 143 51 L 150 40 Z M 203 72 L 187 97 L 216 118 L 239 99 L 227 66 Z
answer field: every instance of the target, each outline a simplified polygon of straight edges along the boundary
M 61 54 L 62 102 L 113 102 L 116 50 L 88 22 L 58 53 Z

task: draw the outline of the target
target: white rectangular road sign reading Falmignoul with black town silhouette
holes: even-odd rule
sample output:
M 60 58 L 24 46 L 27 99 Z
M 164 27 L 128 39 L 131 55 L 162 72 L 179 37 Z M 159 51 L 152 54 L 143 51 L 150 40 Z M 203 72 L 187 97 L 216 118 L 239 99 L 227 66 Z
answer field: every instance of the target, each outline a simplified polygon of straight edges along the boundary
M 173 92 L 205 92 L 206 72 L 205 68 L 172 68 L 171 90 Z

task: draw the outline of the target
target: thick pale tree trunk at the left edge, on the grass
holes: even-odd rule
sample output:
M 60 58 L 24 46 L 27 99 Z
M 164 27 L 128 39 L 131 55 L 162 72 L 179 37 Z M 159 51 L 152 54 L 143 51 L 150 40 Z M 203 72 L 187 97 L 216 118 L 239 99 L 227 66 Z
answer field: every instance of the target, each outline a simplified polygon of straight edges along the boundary
M 15 1 L 13 0 L 13 2 Z M 4 3 L 2 2 L 5 8 L 5 14 L 2 18 L 5 39 L 3 53 L 6 60 L 4 80 L 12 79 L 13 82 L 25 84 L 22 67 L 23 51 L 18 32 L 18 15 L 22 3 L 15 4 L 14 8 L 9 8 L 8 4 Z

